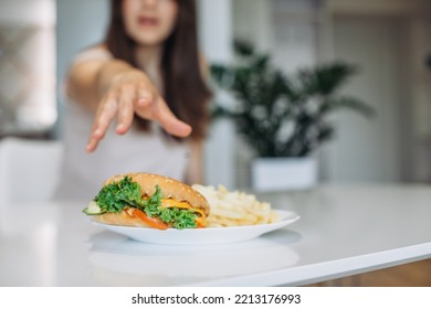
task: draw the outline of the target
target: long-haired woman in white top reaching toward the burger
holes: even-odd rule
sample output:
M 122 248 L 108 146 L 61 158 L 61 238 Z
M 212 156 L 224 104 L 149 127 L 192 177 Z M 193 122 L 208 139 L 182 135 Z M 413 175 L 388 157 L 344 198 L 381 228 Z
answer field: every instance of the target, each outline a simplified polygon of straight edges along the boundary
M 57 198 L 92 198 L 108 177 L 134 171 L 202 182 L 211 94 L 196 23 L 193 0 L 112 0 L 105 42 L 78 55 L 66 79 Z

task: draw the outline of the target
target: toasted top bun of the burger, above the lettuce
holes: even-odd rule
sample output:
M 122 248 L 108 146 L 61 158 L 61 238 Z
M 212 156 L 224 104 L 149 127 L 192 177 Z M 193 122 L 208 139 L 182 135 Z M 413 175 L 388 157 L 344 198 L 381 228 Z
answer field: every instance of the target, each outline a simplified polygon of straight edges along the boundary
M 202 210 L 207 216 L 210 213 L 210 206 L 202 194 L 192 189 L 190 185 L 172 178 L 144 172 L 127 173 L 108 178 L 104 185 L 118 182 L 125 177 L 130 177 L 132 181 L 135 181 L 140 185 L 143 195 L 151 196 L 156 191 L 156 185 L 158 184 L 164 199 L 174 199 L 179 202 L 187 202 L 193 209 Z

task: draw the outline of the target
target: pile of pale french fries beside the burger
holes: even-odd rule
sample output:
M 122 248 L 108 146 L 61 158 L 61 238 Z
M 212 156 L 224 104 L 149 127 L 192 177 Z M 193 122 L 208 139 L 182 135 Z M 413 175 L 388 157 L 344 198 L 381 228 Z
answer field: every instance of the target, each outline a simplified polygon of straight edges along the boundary
M 211 211 L 207 226 L 241 226 L 273 223 L 280 221 L 266 202 L 257 201 L 256 196 L 245 192 L 229 192 L 223 185 L 216 190 L 213 187 L 193 184 L 210 204 Z

